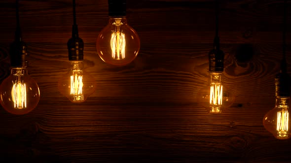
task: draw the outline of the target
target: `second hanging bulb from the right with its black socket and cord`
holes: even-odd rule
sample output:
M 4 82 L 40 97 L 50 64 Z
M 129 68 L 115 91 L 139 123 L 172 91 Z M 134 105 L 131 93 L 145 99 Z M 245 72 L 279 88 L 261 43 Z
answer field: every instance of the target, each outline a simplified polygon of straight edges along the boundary
M 198 103 L 209 113 L 222 113 L 234 101 L 231 90 L 223 85 L 224 53 L 219 49 L 218 37 L 218 0 L 216 1 L 216 35 L 213 50 L 209 52 L 209 85 L 197 94 Z

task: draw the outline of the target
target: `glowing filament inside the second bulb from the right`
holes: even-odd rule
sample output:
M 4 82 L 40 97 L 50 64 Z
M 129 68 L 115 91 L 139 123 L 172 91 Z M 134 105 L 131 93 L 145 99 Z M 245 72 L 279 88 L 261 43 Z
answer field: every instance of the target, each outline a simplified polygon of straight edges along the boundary
M 222 105 L 222 85 L 215 84 L 210 87 L 210 101 L 211 105 Z

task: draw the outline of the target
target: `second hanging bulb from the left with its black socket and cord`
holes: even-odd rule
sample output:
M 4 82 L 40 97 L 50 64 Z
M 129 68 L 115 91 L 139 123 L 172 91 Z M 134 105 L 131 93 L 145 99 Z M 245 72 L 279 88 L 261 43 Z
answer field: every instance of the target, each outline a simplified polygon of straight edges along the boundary
M 69 61 L 68 73 L 59 80 L 58 89 L 72 103 L 85 102 L 87 97 L 96 90 L 96 81 L 84 71 L 84 42 L 79 37 L 76 24 L 75 0 L 73 0 L 73 30 L 68 41 Z

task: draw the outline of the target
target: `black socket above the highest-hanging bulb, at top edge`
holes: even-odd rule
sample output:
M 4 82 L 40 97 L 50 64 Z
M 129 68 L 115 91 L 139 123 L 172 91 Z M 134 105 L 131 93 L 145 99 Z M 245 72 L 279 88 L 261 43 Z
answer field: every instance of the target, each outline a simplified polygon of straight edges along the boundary
M 126 0 L 108 0 L 109 17 L 126 16 Z

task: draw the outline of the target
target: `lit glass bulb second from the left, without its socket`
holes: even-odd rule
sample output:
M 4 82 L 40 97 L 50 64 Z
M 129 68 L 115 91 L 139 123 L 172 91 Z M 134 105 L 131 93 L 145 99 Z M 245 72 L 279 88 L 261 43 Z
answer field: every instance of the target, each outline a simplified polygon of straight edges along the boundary
M 73 103 L 82 103 L 96 89 L 96 81 L 84 70 L 83 61 L 70 61 L 69 72 L 59 80 L 59 91 Z

